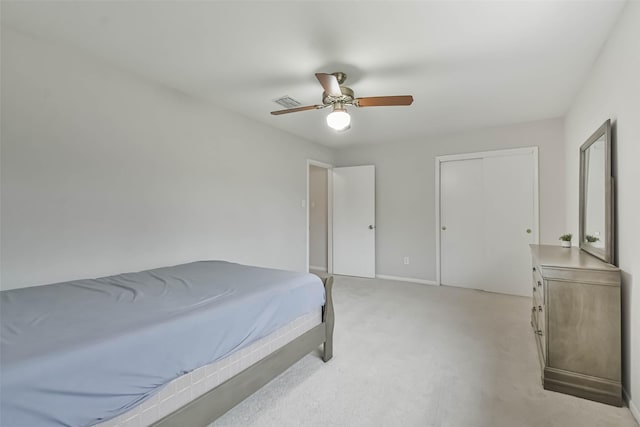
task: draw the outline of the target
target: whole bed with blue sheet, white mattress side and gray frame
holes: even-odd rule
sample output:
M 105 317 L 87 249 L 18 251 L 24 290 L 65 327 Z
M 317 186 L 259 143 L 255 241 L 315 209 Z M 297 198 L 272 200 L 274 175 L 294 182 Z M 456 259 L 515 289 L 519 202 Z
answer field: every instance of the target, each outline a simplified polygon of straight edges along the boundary
M 332 278 L 200 261 L 2 291 L 3 426 L 206 426 L 323 345 Z

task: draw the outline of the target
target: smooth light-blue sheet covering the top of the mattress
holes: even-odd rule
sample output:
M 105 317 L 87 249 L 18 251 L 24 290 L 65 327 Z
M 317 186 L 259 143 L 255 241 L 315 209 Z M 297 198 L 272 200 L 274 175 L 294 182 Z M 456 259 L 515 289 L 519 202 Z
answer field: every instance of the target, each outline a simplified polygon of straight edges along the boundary
M 222 261 L 2 291 L 0 424 L 114 418 L 324 298 L 316 276 Z

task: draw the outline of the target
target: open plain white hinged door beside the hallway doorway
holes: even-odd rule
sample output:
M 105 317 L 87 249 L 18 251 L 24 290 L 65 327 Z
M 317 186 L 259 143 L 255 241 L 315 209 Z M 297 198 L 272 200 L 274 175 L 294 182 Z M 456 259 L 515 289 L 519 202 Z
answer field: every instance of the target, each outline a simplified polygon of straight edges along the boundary
M 333 168 L 333 272 L 375 277 L 375 167 Z

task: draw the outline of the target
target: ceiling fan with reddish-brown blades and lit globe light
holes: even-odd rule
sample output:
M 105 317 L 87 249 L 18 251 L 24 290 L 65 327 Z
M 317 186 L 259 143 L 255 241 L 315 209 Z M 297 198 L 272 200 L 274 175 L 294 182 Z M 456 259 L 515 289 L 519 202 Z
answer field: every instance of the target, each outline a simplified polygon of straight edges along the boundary
M 347 75 L 342 72 L 331 74 L 316 73 L 316 78 L 324 89 L 322 93 L 322 104 L 272 111 L 271 114 L 277 116 L 280 114 L 297 113 L 298 111 L 333 107 L 333 111 L 327 116 L 327 125 L 332 129 L 341 131 L 349 129 L 351 125 L 351 116 L 347 112 L 347 106 L 387 107 L 392 105 L 411 105 L 413 103 L 413 96 L 411 95 L 355 98 L 351 88 L 342 86 L 347 79 Z

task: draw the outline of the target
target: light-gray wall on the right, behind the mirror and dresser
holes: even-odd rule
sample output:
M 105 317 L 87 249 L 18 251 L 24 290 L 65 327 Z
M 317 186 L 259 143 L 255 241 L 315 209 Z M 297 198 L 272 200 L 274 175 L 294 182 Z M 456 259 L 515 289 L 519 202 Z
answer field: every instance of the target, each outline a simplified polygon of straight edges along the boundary
M 630 1 L 566 117 L 566 212 L 578 232 L 579 147 L 613 122 L 617 265 L 622 269 L 623 386 L 640 420 L 640 2 Z

